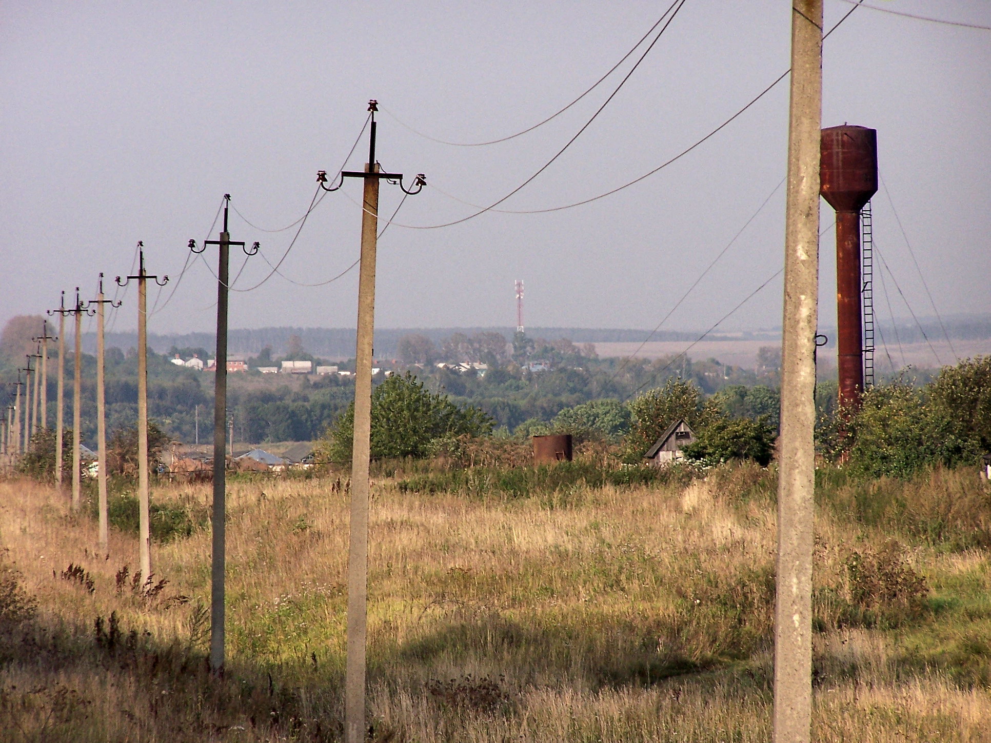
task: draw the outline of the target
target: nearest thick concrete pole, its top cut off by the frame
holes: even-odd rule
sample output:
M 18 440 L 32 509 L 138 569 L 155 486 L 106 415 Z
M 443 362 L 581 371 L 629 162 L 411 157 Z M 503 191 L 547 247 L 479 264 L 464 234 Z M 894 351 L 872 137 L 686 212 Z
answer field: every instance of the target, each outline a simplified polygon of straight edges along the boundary
M 819 320 L 823 0 L 792 0 L 785 213 L 785 304 L 774 616 L 774 742 L 808 743 L 812 725 L 812 552 Z

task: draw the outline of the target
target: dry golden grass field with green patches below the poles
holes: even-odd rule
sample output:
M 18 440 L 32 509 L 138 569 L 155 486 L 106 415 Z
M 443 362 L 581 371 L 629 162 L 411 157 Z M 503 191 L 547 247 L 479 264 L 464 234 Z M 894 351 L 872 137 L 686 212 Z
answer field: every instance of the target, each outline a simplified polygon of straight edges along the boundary
M 821 475 L 815 739 L 991 741 L 985 485 Z M 370 740 L 769 740 L 774 487 L 751 466 L 523 497 L 381 478 Z M 97 554 L 95 523 L 54 488 L 0 482 L 0 740 L 338 740 L 342 489 L 231 484 L 214 679 L 208 527 L 157 544 L 136 582 L 133 535 Z M 208 486 L 153 497 L 195 525 Z

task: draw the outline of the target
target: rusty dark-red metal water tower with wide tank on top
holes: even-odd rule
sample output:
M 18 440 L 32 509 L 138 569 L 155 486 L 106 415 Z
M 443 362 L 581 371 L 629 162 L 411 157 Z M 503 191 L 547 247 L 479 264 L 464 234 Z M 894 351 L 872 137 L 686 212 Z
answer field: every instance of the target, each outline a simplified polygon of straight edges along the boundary
M 877 130 L 823 130 L 820 192 L 836 210 L 836 345 L 839 404 L 856 409 L 864 389 L 860 211 L 877 191 Z

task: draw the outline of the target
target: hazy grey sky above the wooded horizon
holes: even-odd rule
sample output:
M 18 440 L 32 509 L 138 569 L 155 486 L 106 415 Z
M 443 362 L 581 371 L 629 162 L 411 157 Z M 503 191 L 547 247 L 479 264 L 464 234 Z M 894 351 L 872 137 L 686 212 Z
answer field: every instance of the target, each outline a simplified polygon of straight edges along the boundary
M 873 0 L 991 25 L 983 0 Z M 594 82 L 668 2 L 18 2 L 0 5 L 0 323 L 42 312 L 58 291 L 95 292 L 131 266 L 177 277 L 225 192 L 260 227 L 305 211 L 317 169 L 335 171 L 369 98 L 441 139 L 511 134 Z M 849 10 L 826 0 L 831 25 Z M 533 209 L 620 185 L 689 146 L 789 65 L 788 0 L 688 0 L 606 110 L 530 185 L 502 204 Z M 427 174 L 397 223 L 429 225 L 488 204 L 556 153 L 606 99 L 632 57 L 550 124 L 486 148 L 454 148 L 380 116 L 385 167 Z M 826 41 L 824 126 L 878 130 L 880 167 L 944 313 L 988 312 L 991 274 L 991 33 L 859 9 Z M 526 322 L 653 327 L 785 172 L 788 82 L 695 152 L 592 204 L 550 214 L 488 213 L 438 230 L 392 226 L 380 244 L 382 327 Z M 351 165 L 366 159 L 363 140 Z M 432 186 L 436 186 L 436 189 Z M 440 190 L 437 190 L 440 189 Z M 357 258 L 358 181 L 314 210 L 282 265 L 320 281 Z M 401 196 L 384 184 L 382 212 Z M 931 315 L 882 191 L 877 242 L 917 313 Z M 823 227 L 832 212 L 823 204 Z M 708 326 L 777 270 L 781 190 L 665 327 Z M 235 240 L 277 260 L 293 231 L 232 214 Z M 831 232 L 823 240 L 821 323 L 834 322 Z M 215 267 L 216 251 L 204 258 Z M 235 254 L 232 274 L 242 257 Z M 250 260 L 237 286 L 268 272 Z M 215 280 L 191 265 L 156 332 L 210 330 Z M 357 270 L 306 288 L 274 276 L 235 293 L 233 327 L 354 323 Z M 895 314 L 907 315 L 890 285 Z M 162 301 L 171 290 L 165 288 Z M 156 291 L 151 292 L 154 300 Z M 116 329 L 135 325 L 135 292 Z M 780 280 L 727 325 L 780 323 Z M 883 315 L 887 314 L 884 309 Z

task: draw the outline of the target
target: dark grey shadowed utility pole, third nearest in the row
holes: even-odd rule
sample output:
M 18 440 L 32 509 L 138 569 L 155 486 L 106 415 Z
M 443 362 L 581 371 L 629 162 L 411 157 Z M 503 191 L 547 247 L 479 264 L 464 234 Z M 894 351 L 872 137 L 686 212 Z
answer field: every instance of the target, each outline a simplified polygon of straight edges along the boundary
M 227 433 L 227 294 L 230 270 L 231 246 L 240 246 L 248 256 L 258 253 L 259 245 L 255 243 L 251 250 L 245 248 L 242 242 L 231 240 L 228 232 L 227 216 L 230 209 L 231 194 L 224 194 L 224 231 L 220 240 L 206 240 L 203 247 L 196 250 L 196 241 L 189 241 L 189 249 L 193 253 L 202 253 L 206 246 L 217 246 L 219 259 L 217 265 L 217 353 L 216 376 L 214 377 L 213 398 L 213 562 L 210 569 L 210 668 L 215 673 L 221 673 L 224 668 L 225 644 L 225 591 L 224 577 L 226 571 L 227 545 L 227 480 L 226 442 Z

